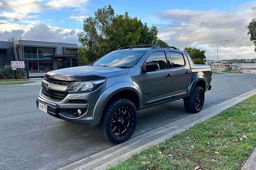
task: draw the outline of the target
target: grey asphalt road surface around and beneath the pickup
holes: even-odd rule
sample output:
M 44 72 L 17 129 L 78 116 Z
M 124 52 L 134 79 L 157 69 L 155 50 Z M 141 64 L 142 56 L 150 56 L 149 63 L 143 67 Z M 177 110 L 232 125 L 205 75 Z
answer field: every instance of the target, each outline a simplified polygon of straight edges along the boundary
M 215 74 L 203 109 L 255 88 L 256 75 Z M 53 170 L 113 146 L 96 127 L 38 111 L 39 90 L 39 85 L 0 88 L 0 169 Z M 145 109 L 138 114 L 133 137 L 189 115 L 182 101 Z

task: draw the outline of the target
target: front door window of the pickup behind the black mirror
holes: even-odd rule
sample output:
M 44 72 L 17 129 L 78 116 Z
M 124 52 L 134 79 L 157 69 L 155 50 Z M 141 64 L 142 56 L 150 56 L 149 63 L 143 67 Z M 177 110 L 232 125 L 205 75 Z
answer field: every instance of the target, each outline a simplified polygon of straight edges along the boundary
M 152 53 L 147 59 L 146 64 L 151 62 L 157 62 L 160 70 L 167 68 L 166 56 L 163 51 L 157 51 Z

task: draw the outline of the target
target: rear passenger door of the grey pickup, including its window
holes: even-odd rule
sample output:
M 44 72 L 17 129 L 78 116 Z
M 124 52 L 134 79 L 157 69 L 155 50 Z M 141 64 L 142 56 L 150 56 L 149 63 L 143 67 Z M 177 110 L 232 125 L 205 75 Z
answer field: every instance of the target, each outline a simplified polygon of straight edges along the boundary
M 169 51 L 172 60 L 172 75 L 174 94 L 184 94 L 187 92 L 190 81 L 190 65 L 182 52 Z

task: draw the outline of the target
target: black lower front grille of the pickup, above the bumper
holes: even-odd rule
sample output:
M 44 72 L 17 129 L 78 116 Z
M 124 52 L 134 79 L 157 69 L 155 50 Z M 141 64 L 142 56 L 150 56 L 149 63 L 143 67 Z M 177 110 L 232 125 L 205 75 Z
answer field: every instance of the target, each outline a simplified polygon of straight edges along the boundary
M 47 90 L 47 84 L 42 82 L 42 95 L 47 97 L 48 99 L 61 101 L 66 96 L 64 91 L 55 91 L 55 90 Z

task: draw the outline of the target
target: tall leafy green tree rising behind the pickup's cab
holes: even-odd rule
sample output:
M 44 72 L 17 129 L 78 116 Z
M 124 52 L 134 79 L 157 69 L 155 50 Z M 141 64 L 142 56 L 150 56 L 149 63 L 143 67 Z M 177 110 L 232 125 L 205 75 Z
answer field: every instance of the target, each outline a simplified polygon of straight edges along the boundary
M 83 31 L 78 34 L 79 42 L 87 50 L 86 55 L 79 54 L 79 59 L 99 57 L 110 51 L 128 45 L 146 45 L 166 42 L 157 38 L 157 27 L 148 27 L 147 23 L 142 23 L 137 17 L 130 17 L 128 12 L 115 15 L 111 5 L 99 8 L 94 12 L 94 17 L 84 19 Z M 92 55 L 92 56 L 88 56 Z M 86 56 L 86 57 L 85 57 Z

